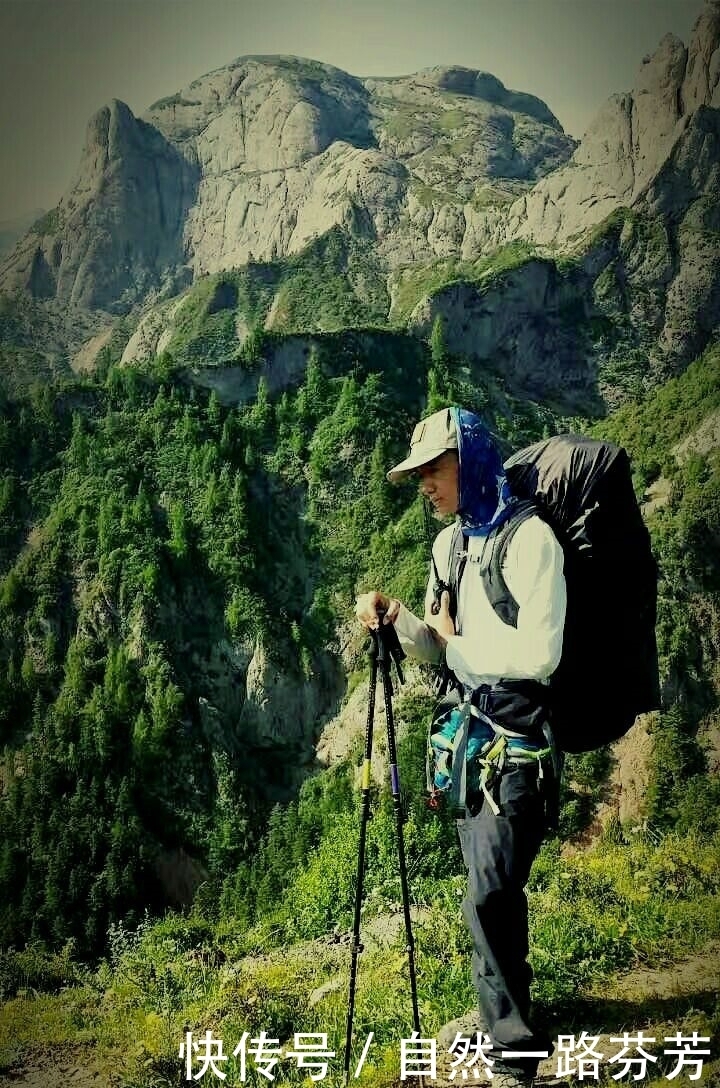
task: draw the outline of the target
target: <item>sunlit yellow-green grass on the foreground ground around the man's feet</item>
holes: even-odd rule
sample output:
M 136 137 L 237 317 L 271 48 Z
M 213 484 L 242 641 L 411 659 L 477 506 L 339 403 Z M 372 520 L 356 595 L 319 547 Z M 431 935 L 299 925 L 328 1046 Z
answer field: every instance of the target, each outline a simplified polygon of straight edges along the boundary
M 557 842 L 547 843 L 533 869 L 534 992 L 551 1036 L 641 1027 L 651 1035 L 648 1025 L 659 1039 L 680 1028 L 717 1031 L 717 999 L 707 988 L 645 1003 L 642 989 L 623 979 L 640 966 L 671 967 L 720 939 L 720 837 L 626 838 L 572 855 Z M 418 904 L 418 993 L 429 1038 L 473 1004 L 469 938 L 459 910 L 463 883 L 459 874 L 425 882 Z M 286 900 L 291 912 L 291 890 Z M 372 902 L 376 907 L 369 908 L 387 911 L 382 897 Z M 363 934 L 369 922 L 370 916 Z M 359 957 L 353 1058 L 372 1031 L 363 1070 L 370 1088 L 397 1084 L 399 1040 L 411 1031 L 405 934 L 398 928 L 389 947 L 365 938 Z M 123 1084 L 170 1085 L 177 1083 L 186 1031 L 197 1039 L 210 1030 L 223 1039 L 227 1055 L 245 1031 L 266 1030 L 284 1051 L 293 1049 L 296 1033 L 315 1033 L 326 1035 L 336 1052 L 328 1083 L 339 1084 L 349 945 L 324 936 L 268 948 L 266 938 L 263 951 L 262 927 L 249 934 L 232 922 L 221 926 L 172 915 L 145 923 L 136 934 L 116 932 L 110 960 L 86 968 L 74 985 L 5 1001 L 0 1068 L 42 1040 L 46 1047 L 91 1047 L 99 1065 L 115 1063 Z M 223 1065 L 229 1083 L 237 1080 L 237 1061 L 228 1056 Z M 302 1076 L 297 1060 L 283 1062 L 288 1084 L 306 1083 Z

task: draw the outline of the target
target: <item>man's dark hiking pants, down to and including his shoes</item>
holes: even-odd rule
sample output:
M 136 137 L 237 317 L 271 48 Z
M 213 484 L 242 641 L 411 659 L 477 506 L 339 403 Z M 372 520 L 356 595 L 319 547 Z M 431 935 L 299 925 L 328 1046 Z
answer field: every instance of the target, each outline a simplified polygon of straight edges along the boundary
M 545 834 L 545 801 L 536 764 L 504 771 L 498 816 L 483 804 L 458 820 L 468 869 L 462 904 L 473 940 L 472 973 L 480 1011 L 493 1041 L 491 1056 L 534 1074 L 537 1059 L 502 1059 L 501 1051 L 549 1050 L 529 1026 L 527 900 L 524 887 Z

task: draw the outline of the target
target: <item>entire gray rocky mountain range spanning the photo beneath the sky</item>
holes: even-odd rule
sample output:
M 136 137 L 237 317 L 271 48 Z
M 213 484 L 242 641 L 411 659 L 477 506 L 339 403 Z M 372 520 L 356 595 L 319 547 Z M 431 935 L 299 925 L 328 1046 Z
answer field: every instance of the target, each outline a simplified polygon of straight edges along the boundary
M 588 358 L 603 368 L 629 351 L 667 373 L 720 331 L 719 125 L 719 0 L 687 47 L 660 41 L 572 157 L 547 107 L 488 73 L 359 79 L 297 58 L 240 58 L 142 120 L 122 103 L 101 110 L 75 184 L 0 269 L 0 289 L 69 313 L 158 302 L 127 346 L 132 361 L 169 343 L 166 299 L 183 283 L 298 254 L 333 227 L 372 248 L 390 293 L 407 268 L 527 242 L 539 256 L 584 254 L 584 300 L 568 312 L 606 322 L 592 343 L 583 333 L 572 353 L 553 301 L 566 288 L 538 296 L 539 265 L 489 293 L 442 293 L 413 330 L 424 335 L 440 313 L 450 346 L 481 362 L 497 355 L 525 390 L 561 361 L 567 393 Z M 632 222 L 594 237 L 623 208 Z M 509 316 L 524 327 L 513 332 Z M 237 320 L 239 344 L 249 325 Z

